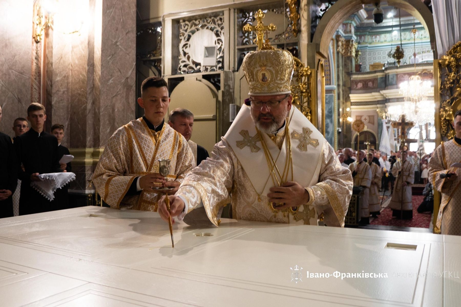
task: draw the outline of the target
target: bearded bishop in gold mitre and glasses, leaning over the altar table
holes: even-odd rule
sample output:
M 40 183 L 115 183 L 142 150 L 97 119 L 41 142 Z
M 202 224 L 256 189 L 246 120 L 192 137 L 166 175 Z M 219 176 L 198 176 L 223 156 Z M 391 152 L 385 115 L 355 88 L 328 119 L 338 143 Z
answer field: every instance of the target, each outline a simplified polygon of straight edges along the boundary
M 250 98 L 211 157 L 170 197 L 171 216 L 181 219 L 203 205 L 218 226 L 219 209 L 230 200 L 237 220 L 318 225 L 323 219 L 328 226 L 344 226 L 352 177 L 322 134 L 291 105 L 291 54 L 250 52 L 242 68 Z M 164 201 L 159 213 L 168 220 Z

